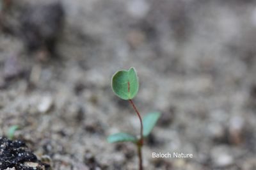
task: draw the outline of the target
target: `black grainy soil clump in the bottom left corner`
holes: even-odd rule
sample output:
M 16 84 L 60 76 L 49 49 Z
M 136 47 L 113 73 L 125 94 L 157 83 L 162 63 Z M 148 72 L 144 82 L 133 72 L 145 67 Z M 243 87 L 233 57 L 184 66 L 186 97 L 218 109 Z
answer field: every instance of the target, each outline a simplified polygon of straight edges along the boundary
M 22 141 L 0 137 L 0 169 L 51 169 L 40 162 Z

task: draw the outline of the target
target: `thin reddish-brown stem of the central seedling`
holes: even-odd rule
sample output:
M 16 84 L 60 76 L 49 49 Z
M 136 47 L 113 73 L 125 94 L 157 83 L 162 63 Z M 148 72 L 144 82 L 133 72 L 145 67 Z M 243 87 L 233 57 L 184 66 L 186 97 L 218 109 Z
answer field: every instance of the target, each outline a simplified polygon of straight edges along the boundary
M 140 119 L 140 140 L 137 143 L 137 147 L 138 147 L 138 156 L 139 156 L 139 169 L 143 170 L 142 154 L 141 154 L 141 148 L 143 146 L 143 123 L 142 123 L 142 118 L 140 116 L 140 112 L 138 111 L 138 109 L 136 108 L 135 104 L 132 102 L 131 99 L 129 100 L 129 102 L 131 103 L 134 111 L 136 112 L 136 114 L 138 115 L 138 117 Z

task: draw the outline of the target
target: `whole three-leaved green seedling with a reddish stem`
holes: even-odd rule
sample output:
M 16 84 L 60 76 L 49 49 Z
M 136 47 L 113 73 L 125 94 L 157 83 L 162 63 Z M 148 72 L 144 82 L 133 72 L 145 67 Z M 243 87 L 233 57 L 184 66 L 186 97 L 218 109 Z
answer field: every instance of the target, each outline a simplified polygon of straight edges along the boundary
M 150 112 L 143 116 L 143 119 L 141 118 L 140 112 L 138 111 L 136 105 L 132 101 L 132 98 L 136 97 L 139 90 L 139 79 L 135 68 L 132 67 L 129 70 L 120 70 L 116 72 L 112 77 L 111 87 L 115 95 L 124 100 L 128 100 L 132 105 L 132 108 L 134 109 L 140 120 L 140 136 L 136 137 L 135 135 L 132 134 L 120 132 L 117 134 L 109 135 L 108 142 L 132 142 L 136 144 L 139 157 L 139 169 L 143 170 L 143 158 L 141 154 L 141 150 L 143 147 L 143 139 L 150 134 L 150 132 L 156 125 L 156 122 L 160 117 L 160 113 Z

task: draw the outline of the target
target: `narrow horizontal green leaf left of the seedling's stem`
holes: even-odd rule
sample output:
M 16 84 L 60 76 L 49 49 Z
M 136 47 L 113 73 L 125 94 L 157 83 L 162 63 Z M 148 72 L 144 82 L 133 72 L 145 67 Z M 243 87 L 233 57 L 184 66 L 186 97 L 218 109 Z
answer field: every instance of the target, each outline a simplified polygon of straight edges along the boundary
M 126 141 L 136 143 L 137 138 L 131 134 L 117 133 L 117 134 L 109 135 L 107 140 L 108 140 L 108 143 L 120 143 L 120 142 L 126 142 Z

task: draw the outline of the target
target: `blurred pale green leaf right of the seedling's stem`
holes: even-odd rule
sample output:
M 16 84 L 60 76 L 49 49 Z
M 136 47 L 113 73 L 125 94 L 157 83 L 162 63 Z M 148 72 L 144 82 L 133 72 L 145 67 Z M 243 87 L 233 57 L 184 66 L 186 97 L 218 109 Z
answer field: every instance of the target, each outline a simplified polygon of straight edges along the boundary
M 159 112 L 150 112 L 143 116 L 143 137 L 147 137 L 150 134 L 160 116 L 161 113 Z

